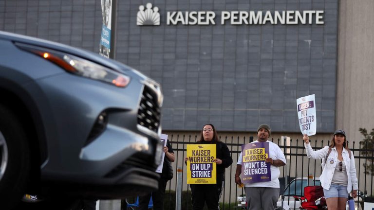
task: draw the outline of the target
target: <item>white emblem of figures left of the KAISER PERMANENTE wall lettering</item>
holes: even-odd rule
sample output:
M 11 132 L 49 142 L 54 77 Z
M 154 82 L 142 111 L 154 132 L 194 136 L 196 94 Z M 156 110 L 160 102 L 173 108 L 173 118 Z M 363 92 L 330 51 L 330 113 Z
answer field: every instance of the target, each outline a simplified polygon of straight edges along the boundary
M 152 9 L 151 3 L 147 3 L 146 8 L 140 5 L 136 16 L 136 25 L 160 25 L 158 7 L 153 7 Z

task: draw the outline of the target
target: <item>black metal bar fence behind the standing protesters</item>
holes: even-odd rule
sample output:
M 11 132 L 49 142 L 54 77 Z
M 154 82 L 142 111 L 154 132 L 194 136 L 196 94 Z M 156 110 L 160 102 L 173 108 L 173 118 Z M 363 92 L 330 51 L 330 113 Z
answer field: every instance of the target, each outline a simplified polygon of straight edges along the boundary
M 197 136 L 185 136 L 185 135 L 171 135 L 168 137 L 169 142 L 174 150 L 175 162 L 173 163 L 174 177 L 168 182 L 167 193 L 165 196 L 165 210 L 175 209 L 175 192 L 177 186 L 176 169 L 182 169 L 182 210 L 191 209 L 189 186 L 186 181 L 186 170 L 187 167 L 184 163 L 184 157 L 186 156 L 187 144 L 194 143 L 197 140 Z M 237 197 L 244 194 L 243 188 L 239 188 L 235 184 L 235 170 L 236 162 L 238 156 L 241 152 L 241 145 L 243 143 L 252 142 L 253 137 L 240 138 L 233 136 L 220 137 L 220 140 L 226 143 L 227 147 L 231 152 L 231 157 L 233 159 L 233 164 L 228 167 L 225 171 L 225 182 L 224 191 L 221 196 L 221 209 L 230 210 L 234 209 L 236 206 Z M 313 175 L 314 177 L 319 177 L 321 174 L 321 160 L 309 159 L 306 157 L 305 148 L 302 140 L 292 140 L 284 138 L 283 140 L 273 140 L 272 141 L 280 146 L 283 150 L 284 155 L 287 159 L 287 165 L 281 167 L 280 183 L 281 192 L 286 187 L 287 183 L 296 177 L 307 177 Z M 313 140 L 311 142 L 313 149 L 321 149 L 328 145 L 330 140 Z M 355 166 L 358 178 L 359 190 L 362 192 L 367 192 L 367 194 L 373 195 L 373 176 L 371 172 L 369 174 L 365 173 L 365 167 L 363 164 L 371 165 L 373 168 L 374 151 L 369 149 L 368 145 L 362 145 L 363 142 L 349 142 L 348 147 L 353 151 L 355 156 Z M 362 154 L 368 154 L 363 156 Z M 371 154 L 371 155 L 370 155 Z

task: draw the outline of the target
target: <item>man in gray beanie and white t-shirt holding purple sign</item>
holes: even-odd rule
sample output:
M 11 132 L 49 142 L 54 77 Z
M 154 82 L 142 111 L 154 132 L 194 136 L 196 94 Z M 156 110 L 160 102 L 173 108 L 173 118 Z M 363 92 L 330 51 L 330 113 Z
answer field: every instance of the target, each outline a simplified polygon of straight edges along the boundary
M 243 171 L 248 210 L 274 210 L 280 193 L 279 167 L 286 164 L 286 158 L 281 148 L 268 140 L 269 125 L 260 125 L 257 129 L 257 137 L 256 141 L 242 146 L 242 153 L 236 165 L 235 183 L 242 185 L 239 175 Z

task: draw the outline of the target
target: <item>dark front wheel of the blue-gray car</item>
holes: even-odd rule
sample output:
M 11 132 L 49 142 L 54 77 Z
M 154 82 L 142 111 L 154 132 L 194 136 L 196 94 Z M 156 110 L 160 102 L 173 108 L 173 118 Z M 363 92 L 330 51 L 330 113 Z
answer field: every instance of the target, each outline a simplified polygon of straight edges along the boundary
M 17 116 L 0 104 L 0 204 L 12 208 L 26 189 L 30 173 L 27 136 Z

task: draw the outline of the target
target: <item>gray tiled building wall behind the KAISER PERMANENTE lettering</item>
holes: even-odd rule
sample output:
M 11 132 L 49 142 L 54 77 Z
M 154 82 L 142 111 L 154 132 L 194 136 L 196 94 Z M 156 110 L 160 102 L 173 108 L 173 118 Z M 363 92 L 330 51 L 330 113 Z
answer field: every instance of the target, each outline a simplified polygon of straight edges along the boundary
M 139 6 L 160 25 L 139 26 Z M 315 94 L 317 130 L 334 131 L 338 0 L 118 0 L 115 59 L 162 84 L 164 130 L 299 132 L 296 99 Z M 222 24 L 222 12 L 323 11 L 323 24 Z M 168 24 L 210 11 L 215 24 Z M 232 14 L 232 13 L 231 13 Z M 264 19 L 265 16 L 262 16 Z M 174 19 L 175 20 L 175 19 Z M 99 0 L 0 0 L 0 30 L 98 52 Z

